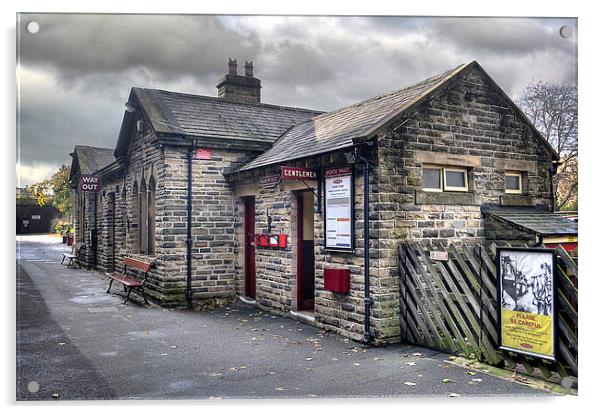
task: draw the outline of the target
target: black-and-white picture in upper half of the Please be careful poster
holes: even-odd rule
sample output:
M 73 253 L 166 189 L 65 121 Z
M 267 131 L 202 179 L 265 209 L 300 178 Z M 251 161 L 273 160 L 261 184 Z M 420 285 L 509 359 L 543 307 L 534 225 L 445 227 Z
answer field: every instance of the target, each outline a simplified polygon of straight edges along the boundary
M 502 307 L 551 315 L 553 258 L 548 253 L 504 250 L 500 255 Z

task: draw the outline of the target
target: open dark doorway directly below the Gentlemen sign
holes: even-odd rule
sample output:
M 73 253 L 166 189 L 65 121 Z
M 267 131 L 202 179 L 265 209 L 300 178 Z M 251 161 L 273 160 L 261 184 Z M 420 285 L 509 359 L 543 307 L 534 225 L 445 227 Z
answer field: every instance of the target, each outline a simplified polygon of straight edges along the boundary
M 314 310 L 314 193 L 297 193 L 297 310 Z

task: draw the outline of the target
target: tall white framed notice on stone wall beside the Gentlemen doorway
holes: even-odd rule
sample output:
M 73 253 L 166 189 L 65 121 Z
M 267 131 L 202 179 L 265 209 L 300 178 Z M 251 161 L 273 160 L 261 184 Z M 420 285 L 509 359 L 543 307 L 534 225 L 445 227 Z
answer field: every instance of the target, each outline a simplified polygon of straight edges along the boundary
M 351 251 L 354 242 L 353 168 L 324 170 L 324 246 L 329 250 Z

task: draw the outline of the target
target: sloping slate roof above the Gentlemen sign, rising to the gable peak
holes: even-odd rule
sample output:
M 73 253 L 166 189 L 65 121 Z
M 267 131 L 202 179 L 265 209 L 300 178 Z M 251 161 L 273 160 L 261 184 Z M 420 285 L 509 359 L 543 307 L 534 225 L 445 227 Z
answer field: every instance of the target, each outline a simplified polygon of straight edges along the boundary
M 412 107 L 468 65 L 460 65 L 404 89 L 316 116 L 288 130 L 272 148 L 237 171 L 350 147 L 354 139 L 367 137 L 375 128 Z

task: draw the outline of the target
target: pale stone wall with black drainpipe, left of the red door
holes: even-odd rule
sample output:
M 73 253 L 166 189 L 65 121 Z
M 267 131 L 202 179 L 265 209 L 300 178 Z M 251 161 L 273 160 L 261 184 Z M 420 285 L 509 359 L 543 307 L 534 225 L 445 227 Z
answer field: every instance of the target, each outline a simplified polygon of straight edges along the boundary
M 181 304 L 186 293 L 187 150 L 166 147 L 164 192 L 157 204 L 166 304 Z M 211 151 L 211 160 L 193 160 L 192 291 L 194 300 L 234 297 L 235 201 L 223 169 L 248 156 L 242 151 Z M 159 220 L 161 226 L 159 227 Z

